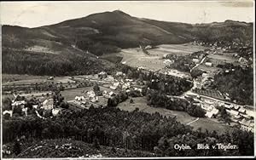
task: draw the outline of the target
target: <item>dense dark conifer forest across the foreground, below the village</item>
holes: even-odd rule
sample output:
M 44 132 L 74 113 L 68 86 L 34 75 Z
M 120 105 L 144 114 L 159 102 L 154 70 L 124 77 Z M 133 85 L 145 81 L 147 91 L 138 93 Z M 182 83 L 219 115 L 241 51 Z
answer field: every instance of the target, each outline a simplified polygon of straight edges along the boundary
M 253 133 L 241 129 L 231 129 L 225 134 L 194 131 L 178 123 L 175 117 L 121 111 L 115 107 L 64 110 L 60 116 L 45 120 L 38 117 L 3 119 L 3 144 L 22 136 L 38 140 L 71 138 L 113 148 L 154 151 L 157 156 L 253 155 Z M 210 146 L 232 143 L 238 149 L 197 150 L 198 143 Z M 174 144 L 188 144 L 192 149 L 177 151 L 173 149 Z

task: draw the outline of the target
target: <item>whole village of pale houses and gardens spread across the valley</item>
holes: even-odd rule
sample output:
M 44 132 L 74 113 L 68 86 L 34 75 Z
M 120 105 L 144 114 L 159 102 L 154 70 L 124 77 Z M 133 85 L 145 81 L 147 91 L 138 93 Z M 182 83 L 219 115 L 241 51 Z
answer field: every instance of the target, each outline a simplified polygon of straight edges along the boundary
M 236 71 L 235 66 L 243 69 L 252 67 L 252 60 L 247 60 L 236 52 L 232 53 L 232 49 L 238 48 L 239 43 L 222 45 L 221 43 L 195 41 L 188 45 L 207 46 L 207 48 L 201 51 L 189 52 L 190 54 L 186 53 L 185 56 L 181 54 L 160 54 L 162 55 L 160 57 L 159 54 L 155 54 L 158 53 L 155 52 L 158 51 L 158 47 L 140 46 L 137 52 L 142 52 L 145 59 L 160 57 L 160 63 L 164 67 L 158 71 L 149 69 L 147 66 L 137 66 L 136 69 L 145 75 L 154 72 L 156 75 L 173 77 L 174 82 L 185 80 L 192 83 L 192 88 L 189 91 L 175 97 L 178 99 L 192 99 L 193 105 L 200 106 L 206 111 L 205 117 L 217 121 L 221 121 L 223 116 L 221 110 L 224 110 L 229 115 L 226 116 L 229 117 L 229 120 L 224 121 L 224 123 L 231 126 L 239 125 L 240 129 L 253 132 L 253 119 L 255 118 L 253 106 L 238 105 L 236 100 L 230 100 L 228 93 L 221 93 L 218 89 L 212 89 L 215 75 L 220 72 L 230 74 L 230 72 Z M 187 48 L 187 44 L 182 47 Z M 122 64 L 126 65 L 126 61 L 123 61 Z M 232 64 L 234 68 L 223 67 L 229 64 Z M 129 64 L 127 65 L 129 66 Z M 183 68 L 179 68 L 181 65 Z M 199 71 L 200 74 L 194 76 L 192 75 L 194 71 Z M 160 80 L 155 78 L 150 81 L 149 83 L 158 83 Z M 9 117 L 12 117 L 17 108 L 20 108 L 20 115 L 28 116 L 33 112 L 37 117 L 46 118 L 57 116 L 61 114 L 61 110 L 67 108 L 81 111 L 89 109 L 91 106 L 107 107 L 109 100 L 119 96 L 120 92 L 130 95 L 132 102 L 132 95 L 145 96 L 143 91 L 149 89 L 147 84 L 147 81 L 128 77 L 122 71 L 116 71 L 113 75 L 101 71 L 94 75 L 47 77 L 38 81 L 38 83 L 6 83 L 3 84 L 3 94 L 12 95 L 12 107 L 3 111 L 3 116 L 9 115 Z M 58 93 L 49 91 L 49 88 L 58 90 Z M 78 91 L 73 93 L 72 90 L 76 89 Z M 13 92 L 14 90 L 15 92 Z

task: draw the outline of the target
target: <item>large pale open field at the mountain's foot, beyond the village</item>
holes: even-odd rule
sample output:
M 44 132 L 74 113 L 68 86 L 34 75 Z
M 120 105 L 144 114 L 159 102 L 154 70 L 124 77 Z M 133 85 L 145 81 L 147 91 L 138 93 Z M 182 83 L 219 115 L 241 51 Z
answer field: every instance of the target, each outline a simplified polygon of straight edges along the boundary
M 119 55 L 123 57 L 123 64 L 133 67 L 143 66 L 152 71 L 158 71 L 165 68 L 164 54 L 192 54 L 195 51 L 207 49 L 202 46 L 185 44 L 163 44 L 157 46 L 158 49 L 148 49 L 148 54 L 144 54 L 142 49 L 122 49 Z

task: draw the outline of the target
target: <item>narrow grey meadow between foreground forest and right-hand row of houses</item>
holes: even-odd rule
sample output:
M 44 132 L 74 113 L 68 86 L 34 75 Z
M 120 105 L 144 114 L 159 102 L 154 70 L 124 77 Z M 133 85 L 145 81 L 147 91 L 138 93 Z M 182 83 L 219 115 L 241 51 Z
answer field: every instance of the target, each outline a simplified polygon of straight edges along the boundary
M 138 108 L 139 111 L 148 113 L 159 112 L 162 116 L 177 117 L 177 121 L 183 124 L 190 123 L 196 119 L 196 117 L 191 117 L 187 112 L 184 111 L 171 111 L 165 108 L 150 107 L 147 105 L 147 100 L 145 97 L 132 98 L 132 100 L 134 101 L 132 104 L 130 103 L 130 99 L 119 103 L 119 109 L 125 111 L 134 111 L 136 108 Z M 217 120 L 210 118 L 199 118 L 199 120 L 195 121 L 194 123 L 190 123 L 189 125 L 194 127 L 194 129 L 201 128 L 204 131 L 206 129 L 209 131 L 216 130 L 218 133 L 224 133 L 227 129 L 229 129 L 227 125 L 219 123 Z

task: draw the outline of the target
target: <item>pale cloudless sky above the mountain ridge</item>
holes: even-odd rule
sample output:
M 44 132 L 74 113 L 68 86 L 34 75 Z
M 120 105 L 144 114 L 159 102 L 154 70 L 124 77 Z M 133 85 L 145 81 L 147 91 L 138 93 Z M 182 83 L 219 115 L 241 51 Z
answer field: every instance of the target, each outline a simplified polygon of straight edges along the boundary
M 122 10 L 139 18 L 184 23 L 253 22 L 253 0 L 150 2 L 1 2 L 1 25 L 38 27 L 89 14 Z

